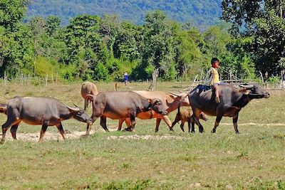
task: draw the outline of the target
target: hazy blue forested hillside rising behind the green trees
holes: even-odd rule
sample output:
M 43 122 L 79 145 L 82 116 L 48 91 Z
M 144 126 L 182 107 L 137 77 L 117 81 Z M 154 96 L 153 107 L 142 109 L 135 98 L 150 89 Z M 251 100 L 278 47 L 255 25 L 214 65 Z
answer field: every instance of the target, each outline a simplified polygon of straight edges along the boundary
M 31 0 L 27 16 L 59 16 L 63 24 L 76 14 L 117 14 L 120 19 L 142 24 L 149 11 L 159 9 L 175 21 L 192 21 L 205 28 L 219 22 L 222 0 Z

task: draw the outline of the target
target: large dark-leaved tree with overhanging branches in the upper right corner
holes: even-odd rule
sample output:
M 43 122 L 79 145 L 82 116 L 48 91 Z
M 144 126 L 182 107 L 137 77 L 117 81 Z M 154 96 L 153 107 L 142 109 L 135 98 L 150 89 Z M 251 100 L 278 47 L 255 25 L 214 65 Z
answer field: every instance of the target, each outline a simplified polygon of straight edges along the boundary
M 222 19 L 232 23 L 232 35 L 235 38 L 252 37 L 251 46 L 247 51 L 252 52 L 257 70 L 269 75 L 276 75 L 284 69 L 280 63 L 285 50 L 285 1 L 257 0 L 222 2 Z

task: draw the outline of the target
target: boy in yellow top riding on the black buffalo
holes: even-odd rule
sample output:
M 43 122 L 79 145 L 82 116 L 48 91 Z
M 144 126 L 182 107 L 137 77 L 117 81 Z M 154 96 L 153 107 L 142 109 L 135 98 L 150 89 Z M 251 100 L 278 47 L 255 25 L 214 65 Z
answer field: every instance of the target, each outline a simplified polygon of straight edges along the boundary
M 207 71 L 206 77 L 204 79 L 205 85 L 212 85 L 212 88 L 214 89 L 215 102 L 219 103 L 219 85 L 221 85 L 221 81 L 219 80 L 219 59 L 212 58 L 211 60 L 212 67 Z

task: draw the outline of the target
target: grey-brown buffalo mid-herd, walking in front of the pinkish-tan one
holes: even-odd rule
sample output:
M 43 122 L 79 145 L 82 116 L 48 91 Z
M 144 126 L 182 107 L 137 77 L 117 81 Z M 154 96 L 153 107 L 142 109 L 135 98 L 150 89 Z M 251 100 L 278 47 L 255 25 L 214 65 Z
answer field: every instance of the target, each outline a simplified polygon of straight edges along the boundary
M 153 110 L 161 115 L 167 115 L 165 106 L 161 100 L 147 99 L 134 93 L 128 92 L 105 92 L 98 95 L 87 95 L 86 99 L 93 102 L 92 122 L 100 117 L 100 125 L 105 131 L 108 131 L 106 126 L 106 117 L 112 120 L 120 120 L 130 118 L 131 127 L 135 127 L 135 117 L 140 112 L 149 112 Z M 86 134 L 89 134 L 90 126 L 88 125 Z

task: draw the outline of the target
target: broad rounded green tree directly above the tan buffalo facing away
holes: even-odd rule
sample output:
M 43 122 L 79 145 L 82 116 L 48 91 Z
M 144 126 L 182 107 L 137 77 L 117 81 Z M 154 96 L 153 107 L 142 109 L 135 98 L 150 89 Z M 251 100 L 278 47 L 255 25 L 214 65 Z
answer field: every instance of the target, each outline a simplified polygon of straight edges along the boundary
M 104 60 L 100 53 L 100 17 L 87 14 L 78 15 L 71 19 L 66 27 L 66 45 L 68 48 L 68 60 L 66 64 L 74 63 L 79 73 L 74 73 L 83 78 L 86 69 L 94 69 L 95 66 Z M 88 72 L 87 72 L 88 73 Z

